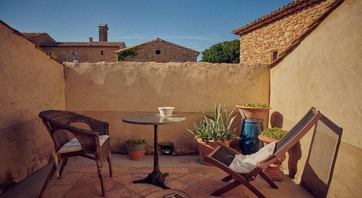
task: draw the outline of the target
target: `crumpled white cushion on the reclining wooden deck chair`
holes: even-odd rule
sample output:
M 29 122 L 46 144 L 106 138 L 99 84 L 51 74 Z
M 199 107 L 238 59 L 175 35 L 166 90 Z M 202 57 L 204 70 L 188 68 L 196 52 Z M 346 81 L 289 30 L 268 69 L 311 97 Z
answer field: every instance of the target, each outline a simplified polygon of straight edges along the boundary
M 274 153 L 276 142 L 270 143 L 266 147 L 261 148 L 258 152 L 251 155 L 235 155 L 229 168 L 241 174 L 247 174 L 254 168 L 262 164 Z

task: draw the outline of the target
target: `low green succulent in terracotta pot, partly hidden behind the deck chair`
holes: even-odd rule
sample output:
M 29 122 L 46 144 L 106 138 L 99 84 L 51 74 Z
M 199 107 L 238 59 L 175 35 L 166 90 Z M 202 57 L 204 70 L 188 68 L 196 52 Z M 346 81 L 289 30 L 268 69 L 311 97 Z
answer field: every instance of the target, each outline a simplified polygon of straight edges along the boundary
M 288 132 L 284 129 L 277 127 L 269 128 L 264 130 L 261 135 L 258 136 L 258 139 L 264 142 L 265 147 L 269 143 L 279 141 L 286 133 Z M 279 167 L 285 158 L 285 154 L 279 157 L 274 163 L 265 169 L 265 174 L 267 174 L 272 180 L 281 182 L 283 180 L 283 172 L 279 169 Z

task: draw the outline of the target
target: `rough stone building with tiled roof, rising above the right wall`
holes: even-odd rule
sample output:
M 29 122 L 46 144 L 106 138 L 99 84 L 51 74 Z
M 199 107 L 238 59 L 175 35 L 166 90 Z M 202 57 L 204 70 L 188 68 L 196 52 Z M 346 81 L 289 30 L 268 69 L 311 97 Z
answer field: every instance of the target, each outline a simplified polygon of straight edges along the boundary
M 274 61 L 334 0 L 294 0 L 261 18 L 232 31 L 240 36 L 240 63 Z

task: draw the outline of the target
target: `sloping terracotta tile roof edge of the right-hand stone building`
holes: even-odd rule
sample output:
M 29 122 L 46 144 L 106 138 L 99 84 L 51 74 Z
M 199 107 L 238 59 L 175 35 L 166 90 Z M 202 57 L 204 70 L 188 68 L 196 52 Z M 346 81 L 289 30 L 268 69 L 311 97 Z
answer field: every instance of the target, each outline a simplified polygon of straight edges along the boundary
M 271 13 L 260 17 L 259 19 L 244 25 L 243 27 L 237 28 L 232 31 L 233 34 L 243 35 L 248 32 L 251 32 L 261 26 L 269 24 L 273 21 L 278 20 L 286 15 L 297 12 L 305 7 L 317 4 L 324 0 L 294 0 L 293 2 L 288 3 L 287 5 L 280 7 L 279 9 L 272 11 Z

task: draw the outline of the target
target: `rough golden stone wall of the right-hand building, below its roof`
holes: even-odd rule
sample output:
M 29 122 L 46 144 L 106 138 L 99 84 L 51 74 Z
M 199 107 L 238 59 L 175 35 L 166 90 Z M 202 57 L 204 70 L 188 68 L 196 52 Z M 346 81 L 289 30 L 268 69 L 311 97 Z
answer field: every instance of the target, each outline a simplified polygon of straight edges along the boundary
M 295 14 L 283 17 L 262 28 L 240 37 L 240 62 L 243 64 L 268 64 L 271 50 L 278 54 L 287 49 L 308 25 L 328 9 L 334 0 L 325 0 Z

